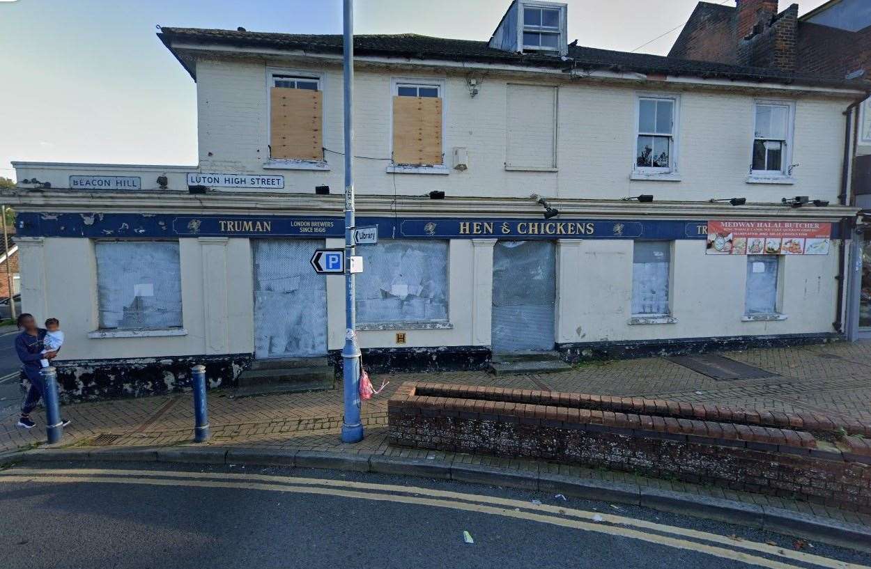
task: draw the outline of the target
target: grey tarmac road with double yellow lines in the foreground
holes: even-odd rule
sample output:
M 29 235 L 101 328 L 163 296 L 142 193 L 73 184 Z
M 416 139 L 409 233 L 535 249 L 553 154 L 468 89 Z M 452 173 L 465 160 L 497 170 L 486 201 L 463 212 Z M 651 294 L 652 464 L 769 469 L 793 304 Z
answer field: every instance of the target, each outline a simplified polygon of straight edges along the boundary
M 441 480 L 133 463 L 0 472 L 0 559 L 8 567 L 871 565 L 868 554 L 798 545 L 644 508 Z

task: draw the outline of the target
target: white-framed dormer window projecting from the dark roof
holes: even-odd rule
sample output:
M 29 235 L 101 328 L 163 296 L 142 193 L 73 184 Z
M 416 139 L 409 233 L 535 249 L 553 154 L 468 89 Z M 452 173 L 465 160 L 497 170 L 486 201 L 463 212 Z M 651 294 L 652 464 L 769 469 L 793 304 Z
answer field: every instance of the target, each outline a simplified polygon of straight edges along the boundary
M 512 53 L 567 55 L 566 10 L 564 3 L 514 0 L 490 37 L 490 47 Z

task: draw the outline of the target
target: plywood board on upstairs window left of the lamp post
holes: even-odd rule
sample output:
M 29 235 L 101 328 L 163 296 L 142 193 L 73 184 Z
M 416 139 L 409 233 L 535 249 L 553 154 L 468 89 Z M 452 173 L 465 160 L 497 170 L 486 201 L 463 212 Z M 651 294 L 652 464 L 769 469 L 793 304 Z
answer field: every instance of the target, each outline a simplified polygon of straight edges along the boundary
M 323 160 L 323 92 L 273 87 L 270 100 L 271 156 Z

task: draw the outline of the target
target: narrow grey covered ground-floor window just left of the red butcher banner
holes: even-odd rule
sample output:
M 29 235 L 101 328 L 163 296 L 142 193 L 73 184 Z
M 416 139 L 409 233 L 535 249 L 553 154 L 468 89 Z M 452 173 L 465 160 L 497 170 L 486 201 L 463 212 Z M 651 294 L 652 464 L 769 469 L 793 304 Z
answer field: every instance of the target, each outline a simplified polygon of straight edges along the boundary
M 670 313 L 671 264 L 671 242 L 635 242 L 632 257 L 632 316 L 665 316 Z

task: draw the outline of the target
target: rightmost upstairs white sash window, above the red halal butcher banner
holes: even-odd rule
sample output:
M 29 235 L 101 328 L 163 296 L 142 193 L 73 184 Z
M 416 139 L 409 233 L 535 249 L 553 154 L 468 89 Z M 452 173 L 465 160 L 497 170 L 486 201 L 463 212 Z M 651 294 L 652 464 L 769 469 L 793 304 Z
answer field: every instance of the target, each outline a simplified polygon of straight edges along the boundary
M 753 128 L 755 176 L 787 176 L 793 130 L 793 106 L 783 103 L 756 103 Z

